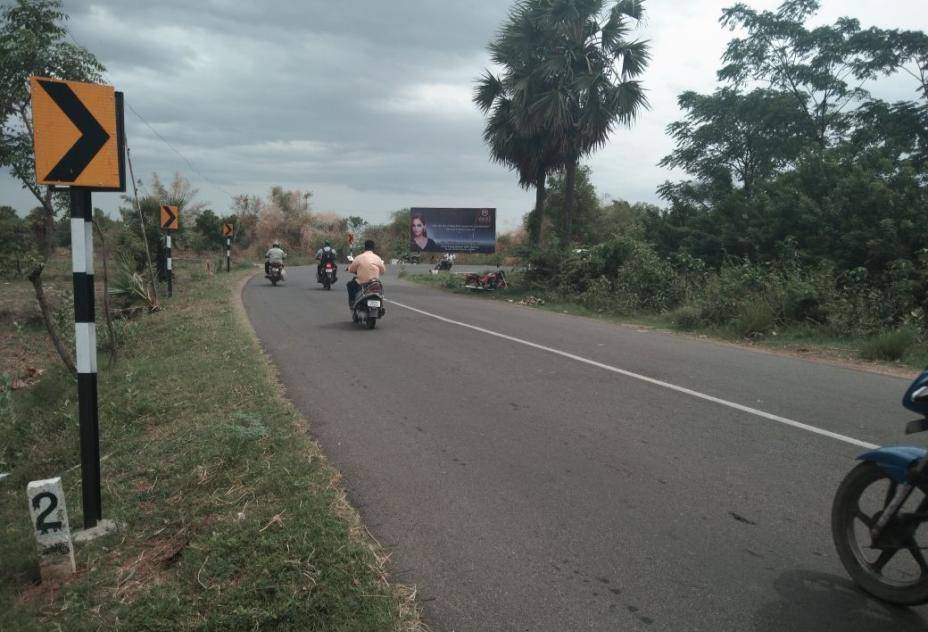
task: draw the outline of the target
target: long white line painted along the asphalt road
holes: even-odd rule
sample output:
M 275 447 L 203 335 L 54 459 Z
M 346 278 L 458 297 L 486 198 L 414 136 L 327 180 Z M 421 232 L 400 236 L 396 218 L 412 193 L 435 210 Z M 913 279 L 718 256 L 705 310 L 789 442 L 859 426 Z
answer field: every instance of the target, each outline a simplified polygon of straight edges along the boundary
M 452 325 L 457 325 L 459 327 L 465 327 L 467 329 L 472 329 L 474 331 L 479 331 L 480 333 L 487 334 L 488 336 L 495 336 L 497 338 L 502 338 L 503 340 L 509 340 L 510 342 L 517 342 L 521 345 L 527 347 L 532 347 L 534 349 L 540 349 L 541 351 L 547 351 L 548 353 L 553 353 L 559 355 L 563 358 L 569 358 L 577 362 L 582 362 L 583 364 L 588 364 L 590 366 L 595 366 L 599 369 L 604 369 L 606 371 L 611 371 L 612 373 L 618 373 L 619 375 L 624 375 L 626 377 L 634 378 L 636 380 L 641 380 L 642 382 L 647 382 L 649 384 L 654 384 L 655 386 L 661 386 L 671 391 L 676 391 L 678 393 L 683 393 L 691 397 L 696 397 L 698 399 L 705 400 L 707 402 L 712 402 L 714 404 L 719 404 L 721 406 L 727 406 L 728 408 L 734 408 L 735 410 L 740 410 L 744 413 L 749 413 L 751 415 L 756 415 L 763 419 L 768 419 L 770 421 L 775 421 L 781 423 L 785 426 L 792 426 L 793 428 L 799 428 L 800 430 L 805 430 L 823 437 L 829 437 L 831 439 L 837 439 L 838 441 L 843 441 L 844 443 L 849 443 L 858 448 L 864 448 L 867 450 L 874 450 L 878 448 L 878 445 L 872 443 L 867 443 L 866 441 L 860 441 L 853 437 L 848 437 L 847 435 L 838 434 L 836 432 L 831 432 L 830 430 L 825 430 L 823 428 L 816 428 L 815 426 L 810 426 L 809 424 L 804 424 L 801 421 L 795 421 L 793 419 L 787 419 L 786 417 L 780 417 L 779 415 L 773 415 L 771 413 L 758 410 L 756 408 L 751 408 L 750 406 L 744 406 L 742 404 L 736 404 L 735 402 L 730 402 L 719 397 L 713 397 L 712 395 L 706 395 L 705 393 L 700 393 L 699 391 L 694 391 L 692 389 L 686 388 L 684 386 L 677 386 L 676 384 L 670 384 L 669 382 L 664 382 L 662 380 L 656 380 L 653 377 L 648 377 L 646 375 L 641 375 L 640 373 L 634 373 L 632 371 L 626 371 L 625 369 L 620 369 L 618 367 L 611 366 L 609 364 L 603 364 L 602 362 L 596 362 L 595 360 L 590 360 L 582 356 L 575 355 L 573 353 L 568 353 L 566 351 L 561 351 L 559 349 L 553 349 L 551 347 L 546 347 L 535 342 L 529 342 L 528 340 L 523 340 L 522 338 L 516 338 L 515 336 L 507 336 L 506 334 L 501 334 L 496 331 L 491 331 L 489 329 L 484 329 L 483 327 L 477 327 L 476 325 L 469 325 L 467 323 L 462 323 L 457 320 L 452 320 L 450 318 L 445 318 L 444 316 L 439 316 L 438 314 L 432 314 L 431 312 L 426 312 L 421 309 L 416 309 L 415 307 L 410 307 L 409 305 L 403 305 L 402 303 L 397 303 L 394 300 L 388 301 L 397 307 L 402 307 L 403 309 L 408 309 L 411 312 L 417 314 L 422 314 L 423 316 L 428 316 L 429 318 L 434 318 L 442 322 L 450 323 Z

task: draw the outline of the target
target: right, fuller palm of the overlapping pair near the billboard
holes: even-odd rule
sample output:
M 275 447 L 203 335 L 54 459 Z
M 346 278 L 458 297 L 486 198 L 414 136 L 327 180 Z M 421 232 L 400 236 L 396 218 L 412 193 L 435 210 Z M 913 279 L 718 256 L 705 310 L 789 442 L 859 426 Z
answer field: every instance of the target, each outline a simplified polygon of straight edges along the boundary
M 611 7 L 607 11 L 607 5 Z M 648 107 L 638 77 L 650 60 L 645 41 L 629 40 L 642 0 L 525 0 L 517 11 L 534 29 L 534 53 L 506 77 L 525 113 L 521 129 L 556 139 L 546 149 L 566 169 L 561 245 L 571 238 L 577 164 L 603 146 L 616 123 L 631 124 Z

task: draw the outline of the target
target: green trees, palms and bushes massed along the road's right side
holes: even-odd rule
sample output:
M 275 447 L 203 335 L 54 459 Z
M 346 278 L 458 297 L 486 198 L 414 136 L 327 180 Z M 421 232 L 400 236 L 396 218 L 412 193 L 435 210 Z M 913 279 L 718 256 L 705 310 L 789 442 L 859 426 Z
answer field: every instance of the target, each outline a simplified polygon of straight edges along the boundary
M 501 253 L 521 270 L 518 289 L 496 296 L 924 366 L 928 35 L 852 17 L 812 27 L 814 0 L 724 9 L 721 26 L 738 36 L 716 90 L 679 96 L 661 165 L 686 176 L 659 187 L 658 207 L 601 199 L 591 170 L 559 153 L 575 146 L 561 117 L 608 136 L 646 107 L 632 97 L 648 50 L 629 39 L 643 3 L 576 4 L 519 4 L 489 45 L 501 70 L 475 91 L 491 158 L 538 193 Z M 584 54 L 564 59 L 572 46 Z M 621 70 L 591 82 L 588 55 Z M 908 81 L 911 98 L 875 97 L 887 77 Z M 596 105 L 602 95 L 610 108 Z

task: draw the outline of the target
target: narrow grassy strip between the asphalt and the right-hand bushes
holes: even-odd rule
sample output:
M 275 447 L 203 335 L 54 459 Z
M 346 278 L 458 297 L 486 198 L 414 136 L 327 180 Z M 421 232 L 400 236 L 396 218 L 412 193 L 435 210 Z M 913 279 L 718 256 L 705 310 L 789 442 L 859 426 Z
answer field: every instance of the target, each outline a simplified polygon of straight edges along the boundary
M 887 369 L 893 372 L 922 370 L 928 366 L 928 348 L 918 344 L 909 330 L 892 331 L 875 337 L 835 336 L 812 326 L 792 329 L 773 327 L 772 314 L 760 308 L 746 310 L 739 315 L 732 327 L 705 327 L 696 322 L 688 308 L 680 308 L 664 314 L 618 314 L 607 309 L 592 309 L 569 298 L 533 289 L 519 284 L 519 274 L 509 275 L 508 289 L 492 292 L 476 292 L 463 287 L 460 274 L 402 274 L 407 281 L 427 285 L 454 294 L 480 297 L 537 307 L 563 314 L 598 318 L 610 322 L 669 329 L 705 338 L 735 342 L 751 348 L 818 358 L 829 362 L 851 363 L 858 366 Z M 759 332 L 766 332 L 759 335 Z

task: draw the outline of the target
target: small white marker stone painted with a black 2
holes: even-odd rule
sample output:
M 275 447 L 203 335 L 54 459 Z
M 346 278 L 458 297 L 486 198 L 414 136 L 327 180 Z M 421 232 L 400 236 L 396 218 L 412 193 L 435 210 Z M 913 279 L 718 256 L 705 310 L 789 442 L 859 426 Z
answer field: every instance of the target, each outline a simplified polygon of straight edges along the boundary
M 26 486 L 32 528 L 39 547 L 42 580 L 65 579 L 74 574 L 74 544 L 64 504 L 61 477 L 32 481 Z

